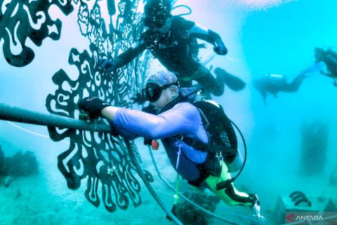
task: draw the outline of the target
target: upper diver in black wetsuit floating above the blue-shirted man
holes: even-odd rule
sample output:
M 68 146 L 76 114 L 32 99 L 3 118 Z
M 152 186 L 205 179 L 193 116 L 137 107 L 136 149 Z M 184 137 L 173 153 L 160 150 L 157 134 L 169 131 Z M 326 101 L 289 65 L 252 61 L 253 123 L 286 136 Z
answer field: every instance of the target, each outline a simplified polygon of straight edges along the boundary
M 178 77 L 181 87 L 192 86 L 194 80 L 214 96 L 221 96 L 225 82 L 230 80 L 231 89 L 232 86 L 234 90 L 243 89 L 245 83 L 238 77 L 221 69 L 222 71 L 216 72 L 216 78 L 214 78 L 211 72 L 199 63 L 197 39 L 213 44 L 213 51 L 218 55 L 227 54 L 227 48 L 220 35 L 180 16 L 171 15 L 171 8 L 169 0 L 148 1 L 145 4 L 143 20 L 148 29 L 140 34 L 138 41 L 117 58 L 113 60 L 100 58 L 98 63 L 100 68 L 114 72 L 148 49 L 167 70 Z M 233 82 L 231 82 L 232 79 Z

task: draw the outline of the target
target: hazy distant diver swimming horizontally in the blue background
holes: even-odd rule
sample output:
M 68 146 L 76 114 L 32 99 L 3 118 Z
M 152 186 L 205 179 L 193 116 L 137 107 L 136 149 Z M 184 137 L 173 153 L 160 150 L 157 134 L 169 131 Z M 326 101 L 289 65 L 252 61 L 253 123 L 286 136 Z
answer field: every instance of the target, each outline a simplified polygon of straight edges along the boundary
M 255 79 L 253 84 L 262 95 L 263 102 L 267 105 L 266 98 L 268 94 L 272 94 L 275 98 L 277 98 L 277 93 L 280 91 L 296 92 L 298 91 L 300 84 L 302 84 L 303 79 L 306 77 L 308 77 L 308 75 L 301 72 L 291 83 L 289 83 L 283 75 L 266 74 L 259 79 Z

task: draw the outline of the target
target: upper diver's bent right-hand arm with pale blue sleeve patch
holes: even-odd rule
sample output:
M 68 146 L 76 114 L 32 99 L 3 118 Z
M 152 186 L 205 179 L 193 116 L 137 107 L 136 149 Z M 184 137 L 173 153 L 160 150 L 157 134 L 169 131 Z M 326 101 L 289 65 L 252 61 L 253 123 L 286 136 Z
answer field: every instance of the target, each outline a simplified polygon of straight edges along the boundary
M 195 23 L 194 26 L 189 30 L 192 37 L 197 37 L 204 41 L 207 41 L 213 44 L 216 48 L 221 47 L 223 48 L 223 53 L 221 55 L 227 54 L 227 49 L 225 44 L 223 44 L 223 40 L 221 39 L 220 35 L 213 30 L 209 30 L 206 27 L 202 27 L 201 25 Z

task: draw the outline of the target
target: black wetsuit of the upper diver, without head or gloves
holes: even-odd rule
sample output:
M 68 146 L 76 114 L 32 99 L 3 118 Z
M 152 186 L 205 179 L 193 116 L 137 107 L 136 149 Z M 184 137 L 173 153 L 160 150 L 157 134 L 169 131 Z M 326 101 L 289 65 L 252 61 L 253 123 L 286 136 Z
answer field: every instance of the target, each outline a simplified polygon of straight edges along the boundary
M 173 16 L 171 19 L 168 32 L 149 29 L 141 34 L 136 46 L 128 48 L 114 59 L 116 67 L 123 67 L 145 49 L 149 49 L 167 70 L 176 74 L 180 86 L 191 86 L 192 80 L 195 80 L 215 96 L 222 95 L 225 85 L 223 76 L 217 76 L 215 79 L 211 72 L 196 60 L 197 38 L 215 44 L 216 40 L 221 40 L 220 36 L 211 31 L 190 32 L 195 25 L 194 22 L 179 16 Z

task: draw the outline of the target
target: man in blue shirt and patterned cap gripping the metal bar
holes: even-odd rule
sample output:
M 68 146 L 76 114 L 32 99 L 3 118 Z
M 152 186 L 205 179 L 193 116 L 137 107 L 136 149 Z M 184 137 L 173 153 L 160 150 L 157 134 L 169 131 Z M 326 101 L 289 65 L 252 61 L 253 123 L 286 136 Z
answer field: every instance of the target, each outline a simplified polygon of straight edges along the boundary
M 190 185 L 211 189 L 228 205 L 243 205 L 259 210 L 256 194 L 239 192 L 232 182 L 218 187 L 221 182 L 231 179 L 228 159 L 221 153 L 218 155 L 216 150 L 205 150 L 211 143 L 201 113 L 192 105 L 195 88 L 180 88 L 176 75 L 161 71 L 147 79 L 143 91 L 147 101 L 150 101 L 148 107 L 151 113 L 114 107 L 98 97 L 82 99 L 79 109 L 91 118 L 104 117 L 112 126 L 112 131 L 126 140 L 139 136 L 161 139 L 171 165 Z

